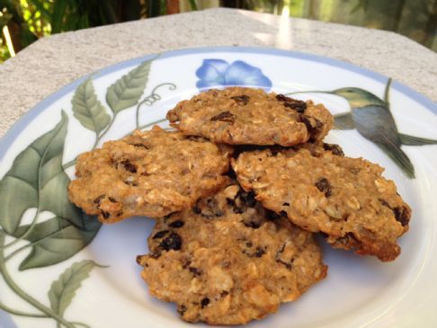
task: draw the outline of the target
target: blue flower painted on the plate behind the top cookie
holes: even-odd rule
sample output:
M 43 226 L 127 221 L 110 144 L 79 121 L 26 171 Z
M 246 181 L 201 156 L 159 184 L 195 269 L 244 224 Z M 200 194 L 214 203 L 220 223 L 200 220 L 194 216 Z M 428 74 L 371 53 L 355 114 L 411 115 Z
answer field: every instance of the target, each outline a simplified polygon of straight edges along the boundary
M 268 91 L 272 81 L 263 71 L 255 66 L 236 60 L 232 64 L 223 59 L 203 59 L 202 66 L 196 71 L 199 89 L 210 89 L 222 86 L 242 85 L 257 86 Z

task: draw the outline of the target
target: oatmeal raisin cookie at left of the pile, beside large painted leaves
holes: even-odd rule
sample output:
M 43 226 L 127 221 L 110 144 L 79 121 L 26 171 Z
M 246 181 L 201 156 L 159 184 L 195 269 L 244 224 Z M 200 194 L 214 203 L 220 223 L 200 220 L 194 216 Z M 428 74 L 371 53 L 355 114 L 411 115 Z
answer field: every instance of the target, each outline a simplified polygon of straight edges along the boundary
M 103 223 L 191 208 L 226 182 L 227 146 L 155 127 L 80 155 L 70 199 Z

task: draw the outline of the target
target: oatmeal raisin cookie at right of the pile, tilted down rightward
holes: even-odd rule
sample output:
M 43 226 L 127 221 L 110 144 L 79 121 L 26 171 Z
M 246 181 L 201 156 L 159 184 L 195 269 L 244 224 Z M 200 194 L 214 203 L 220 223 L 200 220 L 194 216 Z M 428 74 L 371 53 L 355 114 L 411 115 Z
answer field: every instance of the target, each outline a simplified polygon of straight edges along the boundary
M 397 237 L 408 229 L 411 209 L 378 164 L 348 158 L 338 149 L 243 153 L 232 162 L 245 191 L 294 224 L 327 235 L 336 248 L 393 261 Z

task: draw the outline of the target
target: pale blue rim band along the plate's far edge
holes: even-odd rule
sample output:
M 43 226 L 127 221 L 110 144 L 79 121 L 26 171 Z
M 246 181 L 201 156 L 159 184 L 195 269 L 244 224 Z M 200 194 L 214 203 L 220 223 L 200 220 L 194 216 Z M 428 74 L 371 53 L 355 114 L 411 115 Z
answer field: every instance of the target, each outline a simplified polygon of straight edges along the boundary
M 139 65 L 141 62 L 145 60 L 149 60 L 151 58 L 165 59 L 165 58 L 173 58 L 183 55 L 215 53 L 215 52 L 230 52 L 230 53 L 239 52 L 239 53 L 262 54 L 262 55 L 273 55 L 273 56 L 276 55 L 281 57 L 298 58 L 298 59 L 310 60 L 313 62 L 326 64 L 328 66 L 343 68 L 348 71 L 352 71 L 353 73 L 365 75 L 370 79 L 383 84 L 388 80 L 387 75 L 383 75 L 381 73 L 372 71 L 368 68 L 364 68 L 356 64 L 343 61 L 341 59 L 329 58 L 329 57 L 315 55 L 308 52 L 287 50 L 287 49 L 276 49 L 276 48 L 269 48 L 269 47 L 236 47 L 236 46 L 198 47 L 198 48 L 187 48 L 187 49 L 174 49 L 162 53 L 149 54 L 137 58 L 126 59 L 111 64 L 110 66 L 105 66 L 101 69 L 97 69 L 64 85 L 57 91 L 50 93 L 47 97 L 45 97 L 36 105 L 31 107 L 18 120 L 16 120 L 13 123 L 13 125 L 9 129 L 7 129 L 7 131 L 4 133 L 4 136 L 0 138 L 0 161 L 3 160 L 4 155 L 6 154 L 9 147 L 12 146 L 15 138 L 20 135 L 22 130 L 25 129 L 34 118 L 36 118 L 42 111 L 49 108 L 49 105 L 51 105 L 53 102 L 58 101 L 60 97 L 76 90 L 76 87 L 82 82 L 84 82 L 87 77 L 94 76 L 94 78 L 96 78 L 96 77 L 102 77 L 104 75 L 109 75 L 120 69 L 128 68 L 129 66 Z M 431 99 L 424 96 L 422 93 L 418 93 L 417 91 L 410 88 L 406 84 L 402 84 L 400 82 L 397 82 L 396 80 L 393 80 L 391 86 L 399 93 L 405 94 L 409 98 L 415 100 L 415 102 L 419 102 L 427 110 L 433 112 L 434 114 L 437 114 L 436 104 Z

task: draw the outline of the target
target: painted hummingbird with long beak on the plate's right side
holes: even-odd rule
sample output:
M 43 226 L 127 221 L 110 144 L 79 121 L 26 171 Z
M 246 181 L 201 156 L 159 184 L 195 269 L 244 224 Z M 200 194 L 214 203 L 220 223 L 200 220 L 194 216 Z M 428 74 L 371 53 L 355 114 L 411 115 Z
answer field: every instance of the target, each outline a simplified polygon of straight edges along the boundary
M 351 111 L 334 115 L 334 128 L 357 129 L 362 137 L 379 146 L 408 178 L 413 179 L 415 178 L 415 167 L 401 149 L 401 146 L 435 145 L 437 140 L 410 136 L 397 130 L 397 124 L 388 102 L 390 84 L 391 79 L 388 80 L 385 100 L 381 100 L 375 94 L 357 87 L 305 93 L 330 93 L 343 97 L 349 103 Z

